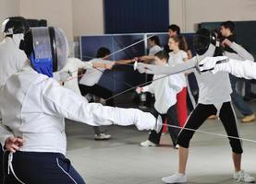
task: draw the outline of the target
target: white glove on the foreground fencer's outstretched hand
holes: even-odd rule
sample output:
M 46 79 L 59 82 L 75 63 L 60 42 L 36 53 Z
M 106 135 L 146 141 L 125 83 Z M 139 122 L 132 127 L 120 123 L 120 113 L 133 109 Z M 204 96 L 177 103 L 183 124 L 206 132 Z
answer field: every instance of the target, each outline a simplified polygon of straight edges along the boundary
M 134 123 L 138 130 L 154 130 L 155 132 L 160 132 L 163 126 L 161 117 L 157 119 L 150 112 L 140 113 L 139 118 Z

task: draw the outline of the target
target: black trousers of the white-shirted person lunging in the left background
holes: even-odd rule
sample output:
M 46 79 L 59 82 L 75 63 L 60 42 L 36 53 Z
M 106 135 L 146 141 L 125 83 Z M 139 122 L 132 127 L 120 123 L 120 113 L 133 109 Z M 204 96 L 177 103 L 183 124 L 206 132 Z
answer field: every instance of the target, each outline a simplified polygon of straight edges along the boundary
M 111 98 L 113 96 L 113 92 L 104 86 L 99 85 L 93 85 L 93 86 L 85 86 L 79 84 L 79 89 L 82 96 L 85 96 L 86 94 L 90 93 L 92 95 L 97 96 L 98 98 Z M 107 106 L 114 106 L 114 100 L 113 98 L 106 100 L 105 102 Z

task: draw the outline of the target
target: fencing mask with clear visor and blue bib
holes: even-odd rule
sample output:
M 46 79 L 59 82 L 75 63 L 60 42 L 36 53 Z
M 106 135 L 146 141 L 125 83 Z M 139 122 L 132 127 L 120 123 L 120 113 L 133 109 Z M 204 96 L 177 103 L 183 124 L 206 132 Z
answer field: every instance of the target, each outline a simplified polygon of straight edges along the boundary
M 27 54 L 34 70 L 49 77 L 67 63 L 68 43 L 62 29 L 31 28 L 21 40 L 20 49 Z

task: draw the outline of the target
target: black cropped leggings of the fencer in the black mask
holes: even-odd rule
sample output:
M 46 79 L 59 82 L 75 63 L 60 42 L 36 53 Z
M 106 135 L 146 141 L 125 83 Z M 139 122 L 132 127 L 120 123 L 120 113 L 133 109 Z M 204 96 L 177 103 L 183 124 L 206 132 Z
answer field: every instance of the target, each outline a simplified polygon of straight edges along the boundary
M 201 124 L 213 114 L 216 114 L 217 109 L 213 105 L 198 104 L 194 109 L 185 124 L 185 128 L 198 130 Z M 222 105 L 219 114 L 220 120 L 222 121 L 226 133 L 228 136 L 239 137 L 237 118 L 230 102 L 226 102 Z M 177 144 L 182 147 L 189 148 L 189 142 L 192 139 L 194 131 L 181 130 L 177 137 Z M 241 141 L 239 139 L 228 138 L 229 144 L 232 147 L 232 151 L 236 154 L 242 154 L 243 149 Z

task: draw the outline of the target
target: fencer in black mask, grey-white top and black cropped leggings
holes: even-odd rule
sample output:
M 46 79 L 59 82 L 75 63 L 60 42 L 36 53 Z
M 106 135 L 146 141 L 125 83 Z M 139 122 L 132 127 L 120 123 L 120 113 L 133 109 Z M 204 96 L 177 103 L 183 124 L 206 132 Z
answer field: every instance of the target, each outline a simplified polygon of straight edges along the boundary
M 197 56 L 186 63 L 172 66 L 157 66 L 138 63 L 137 68 L 141 73 L 172 75 L 178 72 L 190 70 L 194 72 L 200 87 L 199 101 L 197 107 L 190 113 L 185 128 L 197 130 L 206 119 L 213 114 L 218 114 L 225 126 L 228 136 L 239 137 L 237 118 L 231 104 L 230 94 L 232 92 L 227 73 L 213 75 L 210 72 L 200 73 L 199 61 L 207 56 L 221 55 L 216 35 L 209 29 L 199 29 L 194 38 L 193 45 Z M 195 68 L 198 68 L 196 70 Z M 165 183 L 184 183 L 187 181 L 186 166 L 189 156 L 189 142 L 194 132 L 183 129 L 178 135 L 179 145 L 179 167 L 176 174 L 162 178 Z M 242 144 L 238 139 L 229 138 L 232 148 L 232 157 L 235 167 L 233 178 L 242 182 L 254 182 L 255 178 L 241 169 Z

